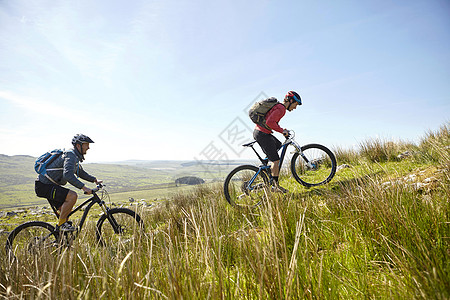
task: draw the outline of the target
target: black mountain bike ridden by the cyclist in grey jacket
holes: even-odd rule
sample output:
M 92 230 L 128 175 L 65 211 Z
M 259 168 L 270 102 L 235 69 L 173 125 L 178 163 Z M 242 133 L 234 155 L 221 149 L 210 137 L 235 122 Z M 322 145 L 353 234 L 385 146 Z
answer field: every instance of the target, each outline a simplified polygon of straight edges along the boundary
M 101 193 L 99 193 L 101 191 Z M 70 212 L 69 217 L 80 211 L 84 206 L 83 215 L 74 232 L 60 232 L 55 226 L 42 221 L 30 221 L 14 228 L 6 241 L 7 254 L 12 259 L 37 255 L 45 249 L 58 249 L 61 246 L 72 245 L 81 232 L 90 209 L 98 204 L 103 211 L 100 215 L 95 235 L 100 245 L 117 245 L 130 242 L 143 232 L 144 224 L 135 211 L 128 208 L 109 208 L 103 199 L 109 197 L 104 186 L 99 184 L 92 190 L 92 197 L 78 205 Z M 58 210 L 52 205 L 53 212 L 59 218 Z

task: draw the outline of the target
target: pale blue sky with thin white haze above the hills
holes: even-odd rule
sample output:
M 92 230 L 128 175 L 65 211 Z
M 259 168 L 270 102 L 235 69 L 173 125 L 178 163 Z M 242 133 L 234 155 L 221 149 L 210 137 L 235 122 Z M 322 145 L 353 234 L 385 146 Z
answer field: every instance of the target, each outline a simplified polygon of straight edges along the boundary
M 415 141 L 450 120 L 449 28 L 446 0 L 3 0 L 0 153 L 253 157 L 246 108 L 289 90 L 300 143 Z

